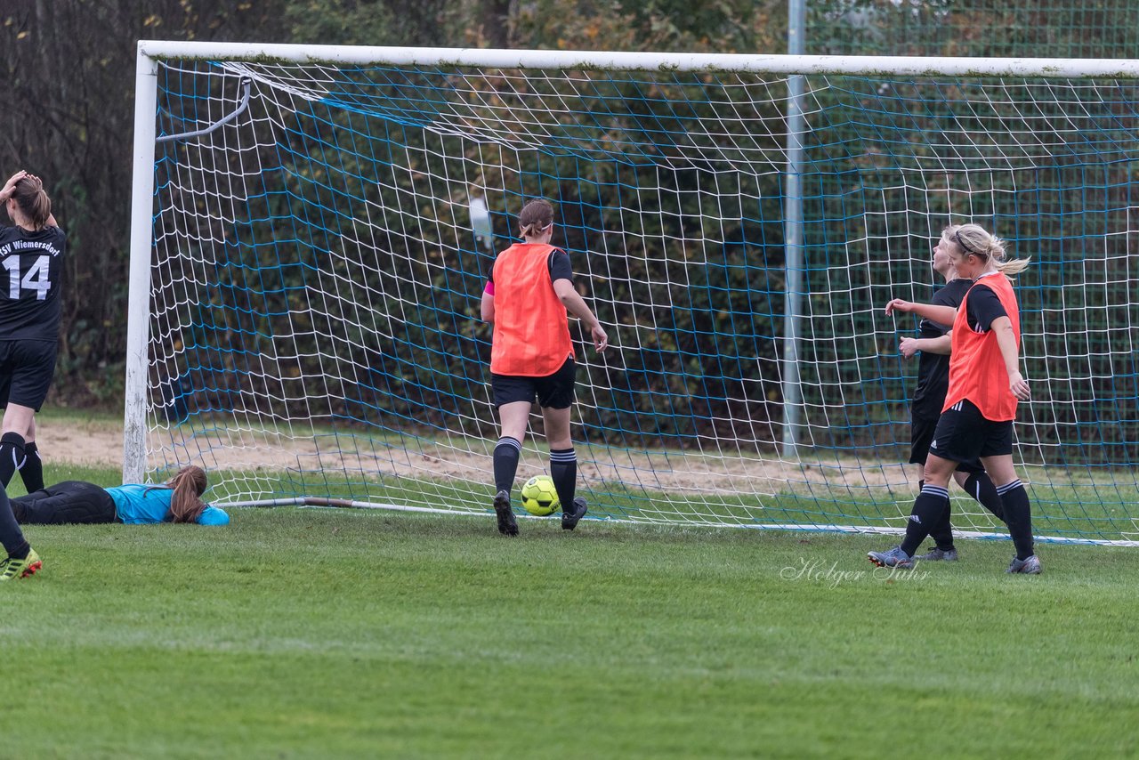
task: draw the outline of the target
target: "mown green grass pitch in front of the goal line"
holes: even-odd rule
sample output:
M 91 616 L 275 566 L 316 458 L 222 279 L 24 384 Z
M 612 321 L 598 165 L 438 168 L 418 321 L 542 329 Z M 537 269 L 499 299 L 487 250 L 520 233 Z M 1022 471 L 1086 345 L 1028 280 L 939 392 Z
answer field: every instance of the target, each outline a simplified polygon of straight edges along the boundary
M 49 480 L 110 484 L 110 469 Z M 1136 549 L 333 509 L 31 526 L 0 757 L 1139 753 Z

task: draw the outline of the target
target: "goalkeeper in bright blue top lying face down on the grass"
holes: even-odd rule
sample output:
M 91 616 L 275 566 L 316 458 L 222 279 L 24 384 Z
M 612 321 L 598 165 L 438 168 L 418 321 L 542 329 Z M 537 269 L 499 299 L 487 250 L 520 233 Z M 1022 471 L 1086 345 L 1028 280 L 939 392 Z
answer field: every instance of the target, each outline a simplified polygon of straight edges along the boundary
M 67 523 L 197 523 L 227 525 L 229 515 L 202 500 L 206 473 L 182 467 L 162 485 L 124 484 L 101 488 L 84 481 L 56 483 L 11 500 L 16 522 L 38 525 Z

